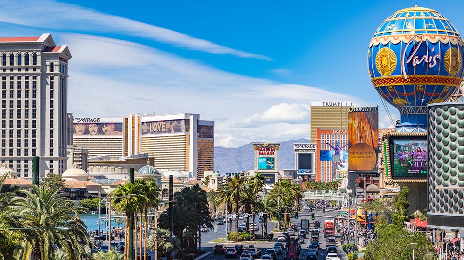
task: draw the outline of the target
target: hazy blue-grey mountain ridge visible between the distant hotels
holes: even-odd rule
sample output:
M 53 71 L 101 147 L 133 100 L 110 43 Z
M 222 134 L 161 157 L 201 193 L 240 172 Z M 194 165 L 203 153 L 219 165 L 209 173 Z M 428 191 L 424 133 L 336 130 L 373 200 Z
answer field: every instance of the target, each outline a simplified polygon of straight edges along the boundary
M 294 169 L 295 153 L 293 144 L 309 143 L 309 140 L 301 138 L 281 142 L 279 145 L 279 170 Z M 237 148 L 227 148 L 222 146 L 214 147 L 214 171 L 219 173 L 237 173 L 254 169 L 254 150 L 253 143 L 242 145 Z

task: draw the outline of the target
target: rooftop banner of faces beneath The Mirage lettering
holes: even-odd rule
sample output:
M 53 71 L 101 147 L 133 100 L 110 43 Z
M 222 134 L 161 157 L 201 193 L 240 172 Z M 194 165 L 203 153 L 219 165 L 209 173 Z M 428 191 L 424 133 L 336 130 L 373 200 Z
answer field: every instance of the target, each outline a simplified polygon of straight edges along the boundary
M 108 121 L 105 118 L 74 118 L 73 136 L 122 136 L 123 123 Z

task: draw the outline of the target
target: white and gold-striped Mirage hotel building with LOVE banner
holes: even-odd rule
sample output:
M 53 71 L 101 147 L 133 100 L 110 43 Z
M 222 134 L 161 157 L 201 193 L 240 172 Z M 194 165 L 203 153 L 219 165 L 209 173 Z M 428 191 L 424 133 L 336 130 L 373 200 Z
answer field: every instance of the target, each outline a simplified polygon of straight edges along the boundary
M 204 171 L 214 170 L 214 121 L 200 120 L 199 114 L 74 118 L 72 139 L 88 150 L 89 160 L 146 153 L 160 171 L 185 171 L 201 179 Z

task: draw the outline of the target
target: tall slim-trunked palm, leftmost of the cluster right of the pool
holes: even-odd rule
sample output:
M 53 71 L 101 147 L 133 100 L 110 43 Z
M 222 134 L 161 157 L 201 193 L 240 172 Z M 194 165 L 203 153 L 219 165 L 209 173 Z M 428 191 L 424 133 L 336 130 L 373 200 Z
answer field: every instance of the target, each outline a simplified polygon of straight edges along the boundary
M 124 235 L 125 245 L 129 245 L 129 227 L 131 214 L 138 210 L 138 196 L 131 197 L 130 194 L 139 194 L 140 184 L 127 182 L 124 185 L 118 185 L 118 187 L 111 192 L 112 197 L 123 197 L 114 200 L 114 208 L 116 212 L 125 213 L 126 215 L 126 230 Z M 134 218 L 135 219 L 135 218 Z M 137 250 L 137 247 L 136 247 Z M 124 260 L 129 259 L 129 247 L 124 247 Z

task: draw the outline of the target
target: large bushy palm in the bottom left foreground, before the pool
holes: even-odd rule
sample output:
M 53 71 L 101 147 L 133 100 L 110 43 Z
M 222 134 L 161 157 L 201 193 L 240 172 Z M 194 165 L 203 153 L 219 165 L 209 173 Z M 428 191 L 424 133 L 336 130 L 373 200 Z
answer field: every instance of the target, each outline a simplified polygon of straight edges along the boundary
M 20 192 L 24 197 L 12 198 L 4 213 L 13 227 L 26 228 L 20 230 L 25 236 L 23 259 L 50 259 L 54 244 L 71 259 L 85 259 L 90 241 L 87 226 L 79 217 L 85 209 L 68 198 L 55 197 L 58 188 L 31 187 L 32 192 Z

